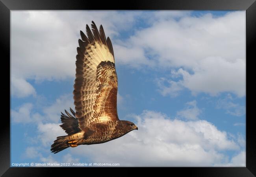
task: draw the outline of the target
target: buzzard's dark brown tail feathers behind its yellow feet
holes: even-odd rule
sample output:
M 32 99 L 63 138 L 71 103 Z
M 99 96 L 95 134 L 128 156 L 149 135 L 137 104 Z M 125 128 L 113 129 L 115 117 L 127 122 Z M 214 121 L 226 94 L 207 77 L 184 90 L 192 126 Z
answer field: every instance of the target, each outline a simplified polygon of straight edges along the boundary
M 58 136 L 57 139 L 54 141 L 54 144 L 52 144 L 52 146 L 51 146 L 52 147 L 51 148 L 52 153 L 56 154 L 59 151 L 62 151 L 64 149 L 70 147 L 69 143 L 68 143 L 68 141 L 69 141 L 68 137 L 69 137 L 69 135 L 67 135 L 67 136 Z

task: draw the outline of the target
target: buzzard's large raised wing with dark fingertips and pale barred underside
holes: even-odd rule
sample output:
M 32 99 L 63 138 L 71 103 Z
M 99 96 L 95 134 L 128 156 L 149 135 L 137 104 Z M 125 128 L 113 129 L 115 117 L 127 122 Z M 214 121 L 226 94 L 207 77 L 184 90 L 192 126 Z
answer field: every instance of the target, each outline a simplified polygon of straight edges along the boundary
M 98 31 L 92 21 L 92 31 L 86 25 L 86 35 L 76 55 L 74 105 L 79 128 L 90 124 L 119 120 L 117 116 L 117 74 L 111 41 L 106 39 L 102 25 Z

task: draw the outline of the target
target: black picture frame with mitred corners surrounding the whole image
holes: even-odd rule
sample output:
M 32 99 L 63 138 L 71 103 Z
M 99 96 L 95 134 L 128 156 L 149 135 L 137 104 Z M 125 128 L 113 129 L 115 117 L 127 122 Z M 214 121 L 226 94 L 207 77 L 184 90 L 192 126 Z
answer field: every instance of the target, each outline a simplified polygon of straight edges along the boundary
M 256 43 L 256 2 L 255 0 L 139 0 L 127 2 L 110 2 L 101 1 L 96 2 L 92 0 L 0 0 L 0 44 L 2 60 L 6 61 L 6 65 L 10 68 L 10 13 L 11 10 L 246 10 L 246 81 L 249 75 L 249 70 L 252 70 L 252 65 L 247 65 L 247 62 L 255 59 L 253 52 Z M 4 65 L 3 68 L 8 68 Z M 11 71 L 11 68 L 10 68 Z M 10 72 L 9 72 L 10 73 Z M 6 72 L 2 74 L 6 77 Z M 8 77 L 5 85 L 6 90 L 10 89 Z M 10 79 L 10 77 L 9 77 Z M 10 80 L 9 80 L 10 83 Z M 246 82 L 246 93 L 250 95 L 253 87 L 248 87 L 249 82 Z M 11 95 L 9 95 L 9 100 Z M 189 167 L 189 168 L 171 168 L 161 169 L 168 170 L 167 174 L 179 175 L 187 173 L 191 176 L 233 176 L 233 177 L 250 177 L 256 175 L 256 138 L 254 131 L 252 109 L 250 109 L 251 96 L 246 97 L 246 167 Z M 7 101 L 8 102 L 8 101 Z M 7 104 L 6 104 L 7 105 Z M 9 102 L 9 110 L 11 104 Z M 5 112 L 8 112 L 5 110 Z M 10 113 L 10 112 L 9 112 Z M 1 151 L 0 151 L 0 175 L 2 176 L 48 176 L 53 172 L 65 173 L 74 175 L 74 168 L 18 168 L 10 167 L 10 120 L 6 117 L 1 119 Z M 89 174 L 91 170 L 104 171 L 108 173 L 113 168 L 76 168 L 83 171 L 85 175 Z M 119 168 L 123 170 L 123 168 Z M 145 169 L 147 172 L 154 170 L 154 168 Z M 73 171 L 73 172 L 72 172 Z M 171 173 L 170 173 L 171 172 Z M 79 172 L 75 172 L 76 175 Z M 129 170 L 126 174 L 133 175 L 136 172 Z

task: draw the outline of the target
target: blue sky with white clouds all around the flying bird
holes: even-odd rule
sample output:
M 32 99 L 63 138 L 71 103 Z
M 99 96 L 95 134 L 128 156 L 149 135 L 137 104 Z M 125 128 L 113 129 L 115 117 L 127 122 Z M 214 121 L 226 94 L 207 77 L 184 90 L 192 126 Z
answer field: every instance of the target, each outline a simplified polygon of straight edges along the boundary
M 53 154 L 92 20 L 113 44 L 119 119 L 139 129 Z M 245 98 L 245 11 L 11 11 L 10 166 L 245 166 Z

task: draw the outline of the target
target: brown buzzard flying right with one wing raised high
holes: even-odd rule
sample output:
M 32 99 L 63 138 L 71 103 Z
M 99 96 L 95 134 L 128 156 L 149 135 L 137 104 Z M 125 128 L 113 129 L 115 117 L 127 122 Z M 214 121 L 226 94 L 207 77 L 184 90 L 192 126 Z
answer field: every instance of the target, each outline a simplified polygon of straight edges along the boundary
M 53 153 L 82 144 L 100 144 L 119 138 L 138 127 L 117 115 L 117 73 L 113 47 L 102 25 L 99 31 L 92 21 L 86 25 L 87 36 L 81 39 L 76 55 L 74 112 L 61 112 L 60 125 L 66 136 L 58 136 L 51 146 Z

